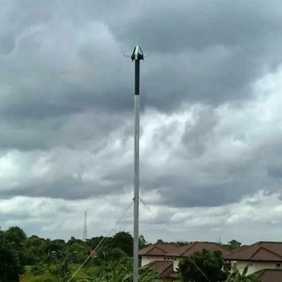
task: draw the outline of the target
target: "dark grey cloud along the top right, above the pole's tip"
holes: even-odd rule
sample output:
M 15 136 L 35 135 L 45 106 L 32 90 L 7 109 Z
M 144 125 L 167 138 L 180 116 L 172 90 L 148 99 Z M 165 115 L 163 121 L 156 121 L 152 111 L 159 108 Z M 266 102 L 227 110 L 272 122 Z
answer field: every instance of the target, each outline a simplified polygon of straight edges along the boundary
M 111 28 L 119 40 L 137 37 L 154 53 L 237 47 L 265 39 L 270 31 L 280 33 L 279 8 L 277 1 L 145 1 Z

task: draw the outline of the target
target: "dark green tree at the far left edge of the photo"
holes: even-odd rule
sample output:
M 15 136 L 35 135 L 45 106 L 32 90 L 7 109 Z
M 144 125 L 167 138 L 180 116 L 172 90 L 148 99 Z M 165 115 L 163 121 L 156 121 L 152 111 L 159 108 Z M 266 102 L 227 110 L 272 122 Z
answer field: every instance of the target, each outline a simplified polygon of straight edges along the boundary
M 0 234 L 0 282 L 18 282 L 22 271 L 17 251 Z

